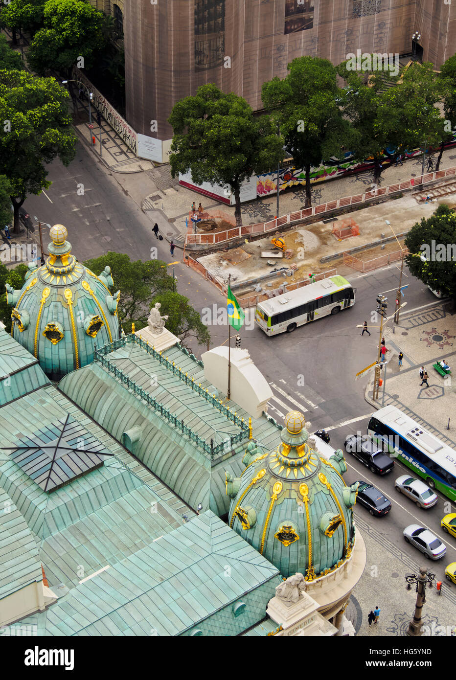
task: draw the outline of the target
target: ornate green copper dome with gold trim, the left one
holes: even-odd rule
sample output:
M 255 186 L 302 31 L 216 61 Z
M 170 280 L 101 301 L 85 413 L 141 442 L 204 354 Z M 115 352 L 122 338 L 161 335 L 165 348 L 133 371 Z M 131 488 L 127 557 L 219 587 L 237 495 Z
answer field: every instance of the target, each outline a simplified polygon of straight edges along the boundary
M 50 237 L 46 264 L 29 264 L 22 290 L 6 288 L 13 305 L 12 336 L 58 380 L 92 361 L 95 342 L 100 346 L 118 339 L 120 292 L 109 290 L 109 267 L 97 277 L 71 255 L 63 224 L 52 226 Z

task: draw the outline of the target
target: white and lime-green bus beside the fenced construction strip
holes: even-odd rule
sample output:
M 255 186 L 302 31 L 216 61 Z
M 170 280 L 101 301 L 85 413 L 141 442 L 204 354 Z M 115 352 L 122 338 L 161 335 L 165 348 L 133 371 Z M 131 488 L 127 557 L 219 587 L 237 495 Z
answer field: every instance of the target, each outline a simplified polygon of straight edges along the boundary
M 258 303 L 255 321 L 267 335 L 292 333 L 295 328 L 340 309 L 353 307 L 355 289 L 343 276 L 330 276 Z

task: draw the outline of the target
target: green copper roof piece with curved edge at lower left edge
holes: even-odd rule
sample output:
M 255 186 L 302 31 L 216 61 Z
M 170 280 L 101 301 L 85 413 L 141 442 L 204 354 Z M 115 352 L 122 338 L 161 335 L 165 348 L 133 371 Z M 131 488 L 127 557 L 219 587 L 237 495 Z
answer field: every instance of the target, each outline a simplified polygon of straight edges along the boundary
M 43 575 L 33 534 L 2 488 L 0 509 L 1 599 L 33 581 L 41 581 Z

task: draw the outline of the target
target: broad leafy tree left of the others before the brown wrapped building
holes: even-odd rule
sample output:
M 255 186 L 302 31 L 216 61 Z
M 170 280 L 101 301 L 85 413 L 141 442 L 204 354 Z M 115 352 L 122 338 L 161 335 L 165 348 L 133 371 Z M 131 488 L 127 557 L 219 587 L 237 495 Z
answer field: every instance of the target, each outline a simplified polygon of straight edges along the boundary
M 173 106 L 169 122 L 171 175 L 189 170 L 197 184 L 228 185 L 234 193 L 236 225 L 241 226 L 241 184 L 251 175 L 277 168 L 283 140 L 267 116 L 255 118 L 245 99 L 202 85 L 194 97 Z

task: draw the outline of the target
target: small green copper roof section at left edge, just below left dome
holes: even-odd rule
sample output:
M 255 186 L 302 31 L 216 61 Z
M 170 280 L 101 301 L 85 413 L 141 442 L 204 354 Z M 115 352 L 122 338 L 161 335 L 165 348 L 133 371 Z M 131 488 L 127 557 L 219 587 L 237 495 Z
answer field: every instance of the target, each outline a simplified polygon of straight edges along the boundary
M 0 407 L 46 384 L 37 359 L 0 328 Z

